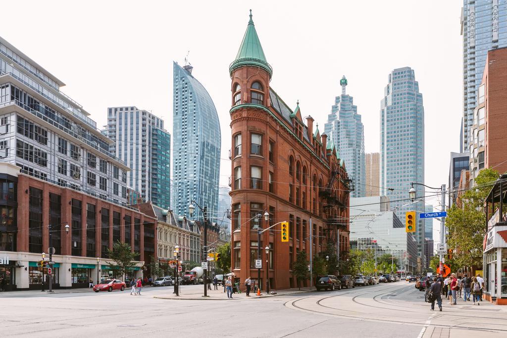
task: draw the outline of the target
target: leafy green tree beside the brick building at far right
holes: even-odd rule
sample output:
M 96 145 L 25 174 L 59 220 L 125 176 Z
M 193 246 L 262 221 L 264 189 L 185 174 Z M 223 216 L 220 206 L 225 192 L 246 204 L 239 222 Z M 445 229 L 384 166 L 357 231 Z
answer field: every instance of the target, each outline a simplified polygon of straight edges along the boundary
M 481 170 L 475 180 L 477 189 L 466 191 L 461 196 L 462 207 L 453 204 L 447 213 L 447 244 L 449 249 L 458 249 L 453 254 L 453 263 L 458 267 L 482 266 L 482 245 L 486 235 L 484 202 L 497 178 L 496 170 Z

